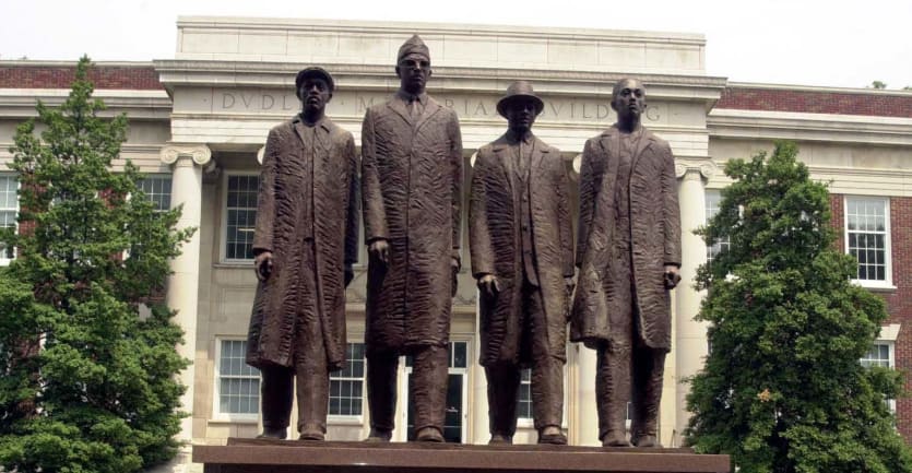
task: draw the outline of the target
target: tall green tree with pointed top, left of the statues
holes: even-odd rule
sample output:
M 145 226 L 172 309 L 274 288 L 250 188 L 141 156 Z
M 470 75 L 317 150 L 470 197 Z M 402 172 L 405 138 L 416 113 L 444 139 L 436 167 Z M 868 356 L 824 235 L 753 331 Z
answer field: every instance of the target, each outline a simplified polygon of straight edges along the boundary
M 102 118 L 83 57 L 59 109 L 37 105 L 10 149 L 20 232 L 0 241 L 0 470 L 134 472 L 173 458 L 187 366 L 158 297 L 191 230 L 155 212 L 129 162 L 127 117 Z M 40 132 L 38 132 L 40 130 Z M 151 315 L 140 315 L 141 306 Z

